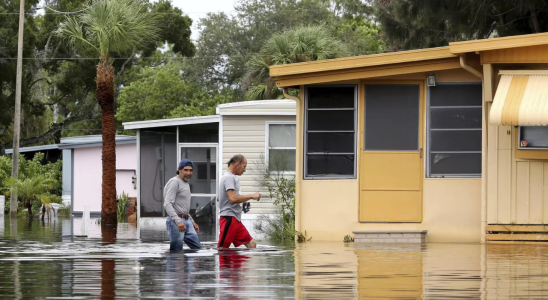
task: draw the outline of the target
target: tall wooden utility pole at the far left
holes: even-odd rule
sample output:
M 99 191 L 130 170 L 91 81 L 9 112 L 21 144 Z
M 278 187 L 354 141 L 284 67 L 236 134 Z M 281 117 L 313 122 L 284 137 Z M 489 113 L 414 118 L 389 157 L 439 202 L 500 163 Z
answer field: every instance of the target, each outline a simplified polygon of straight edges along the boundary
M 21 129 L 21 81 L 23 76 L 23 29 L 25 26 L 25 0 L 19 6 L 19 37 L 17 40 L 17 77 L 15 79 L 15 115 L 13 118 L 13 154 L 11 177 L 19 178 L 19 131 Z M 17 216 L 17 189 L 12 187 L 10 215 Z

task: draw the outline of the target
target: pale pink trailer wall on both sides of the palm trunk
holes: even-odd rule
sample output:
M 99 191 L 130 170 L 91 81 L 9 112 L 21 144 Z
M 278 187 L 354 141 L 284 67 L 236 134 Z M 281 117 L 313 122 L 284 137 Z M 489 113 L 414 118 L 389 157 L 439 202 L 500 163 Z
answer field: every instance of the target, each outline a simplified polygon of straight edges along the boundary
M 90 211 L 101 211 L 101 147 L 74 149 L 73 164 L 73 211 L 84 211 L 84 205 L 90 205 Z M 137 190 L 131 183 L 131 177 L 137 170 L 136 144 L 116 145 L 116 194 L 129 194 L 137 197 Z

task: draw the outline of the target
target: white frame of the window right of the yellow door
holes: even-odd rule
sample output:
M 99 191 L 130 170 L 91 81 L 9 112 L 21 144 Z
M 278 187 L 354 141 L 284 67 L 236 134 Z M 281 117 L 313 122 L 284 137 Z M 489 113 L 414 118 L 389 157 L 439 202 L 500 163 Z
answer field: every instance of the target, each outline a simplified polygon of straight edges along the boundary
M 481 85 L 481 81 L 452 81 L 452 82 L 438 82 L 436 85 Z M 426 89 L 426 156 L 424 159 L 425 162 L 425 170 L 426 170 L 426 178 L 481 178 L 481 172 L 479 174 L 435 174 L 432 175 L 430 170 L 430 87 L 427 87 Z M 482 109 L 483 103 L 483 95 L 482 95 L 482 104 L 481 105 L 474 105 L 474 106 L 459 106 L 459 108 L 479 108 Z M 463 129 L 464 130 L 479 130 L 481 132 L 482 128 L 479 129 Z M 482 153 L 482 150 L 480 151 L 439 151 L 436 153 Z M 483 167 L 483 166 L 482 166 Z

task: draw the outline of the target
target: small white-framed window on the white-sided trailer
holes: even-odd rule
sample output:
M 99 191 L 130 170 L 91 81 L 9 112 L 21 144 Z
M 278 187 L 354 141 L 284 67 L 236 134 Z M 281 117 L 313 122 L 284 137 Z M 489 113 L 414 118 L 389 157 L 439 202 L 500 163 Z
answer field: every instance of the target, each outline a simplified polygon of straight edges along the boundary
M 267 124 L 268 170 L 295 172 L 295 124 Z

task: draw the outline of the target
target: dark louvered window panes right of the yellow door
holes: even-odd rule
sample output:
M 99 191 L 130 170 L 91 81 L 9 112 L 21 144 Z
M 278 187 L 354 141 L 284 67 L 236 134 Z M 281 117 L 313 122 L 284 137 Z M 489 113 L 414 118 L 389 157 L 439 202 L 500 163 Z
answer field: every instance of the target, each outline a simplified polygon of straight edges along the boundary
M 481 176 L 481 84 L 439 84 L 428 92 L 428 176 Z

